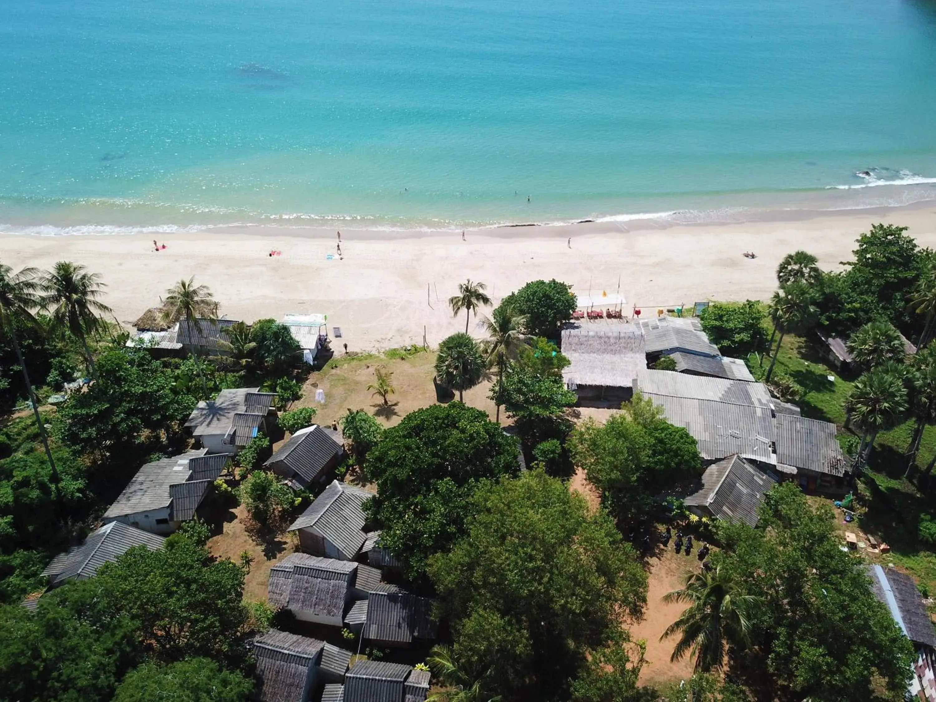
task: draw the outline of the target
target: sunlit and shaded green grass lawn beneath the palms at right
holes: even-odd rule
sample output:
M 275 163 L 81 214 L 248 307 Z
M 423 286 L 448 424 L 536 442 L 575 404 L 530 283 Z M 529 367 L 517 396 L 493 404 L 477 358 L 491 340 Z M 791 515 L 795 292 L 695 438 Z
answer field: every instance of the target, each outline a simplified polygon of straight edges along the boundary
M 767 372 L 770 358 L 748 358 L 755 377 Z M 823 419 L 839 426 L 843 443 L 854 443 L 856 431 L 843 429 L 844 402 L 854 383 L 854 376 L 843 377 L 827 362 L 822 350 L 802 337 L 787 335 L 783 339 L 774 373 L 786 373 L 806 391 L 801 407 L 803 417 Z M 831 376 L 831 380 L 829 377 Z M 911 480 L 903 477 L 906 460 L 903 453 L 914 432 L 913 420 L 885 431 L 878 436 L 871 453 L 869 470 L 862 478 L 867 512 L 857 526 L 865 533 L 883 539 L 890 547 L 889 554 L 875 556 L 862 551 L 876 563 L 894 563 L 920 580 L 929 592 L 936 593 L 936 553 L 928 545 L 920 544 L 917 530 L 922 514 L 929 514 L 932 502 L 928 495 L 917 490 Z M 924 469 L 936 454 L 936 427 L 927 427 L 916 458 L 917 472 Z M 841 522 L 841 519 L 840 519 Z M 855 531 L 854 527 L 839 524 L 840 530 Z

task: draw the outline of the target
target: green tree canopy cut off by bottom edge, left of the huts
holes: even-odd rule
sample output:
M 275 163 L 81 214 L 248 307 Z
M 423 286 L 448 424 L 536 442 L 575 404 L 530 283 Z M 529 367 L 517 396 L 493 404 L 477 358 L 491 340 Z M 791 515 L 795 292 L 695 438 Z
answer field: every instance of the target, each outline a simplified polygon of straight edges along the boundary
M 225 670 L 208 658 L 169 665 L 144 663 L 131 670 L 113 702 L 246 702 L 254 680 Z

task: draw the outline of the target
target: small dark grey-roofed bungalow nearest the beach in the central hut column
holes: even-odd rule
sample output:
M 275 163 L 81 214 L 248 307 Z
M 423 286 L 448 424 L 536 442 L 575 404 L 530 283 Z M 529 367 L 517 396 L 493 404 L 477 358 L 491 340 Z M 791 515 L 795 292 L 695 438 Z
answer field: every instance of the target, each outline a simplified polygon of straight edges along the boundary
M 263 467 L 284 477 L 297 490 L 325 482 L 344 459 L 340 436 L 317 424 L 300 429 L 276 449 Z

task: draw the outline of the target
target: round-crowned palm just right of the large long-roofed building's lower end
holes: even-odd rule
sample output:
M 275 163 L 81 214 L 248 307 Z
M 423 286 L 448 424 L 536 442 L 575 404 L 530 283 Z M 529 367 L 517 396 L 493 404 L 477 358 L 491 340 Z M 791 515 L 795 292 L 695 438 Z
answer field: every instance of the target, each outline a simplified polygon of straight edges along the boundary
M 856 467 L 868 461 L 878 432 L 897 426 L 907 411 L 907 388 L 901 374 L 895 372 L 899 368 L 896 364 L 886 364 L 864 373 L 845 401 L 861 430 Z

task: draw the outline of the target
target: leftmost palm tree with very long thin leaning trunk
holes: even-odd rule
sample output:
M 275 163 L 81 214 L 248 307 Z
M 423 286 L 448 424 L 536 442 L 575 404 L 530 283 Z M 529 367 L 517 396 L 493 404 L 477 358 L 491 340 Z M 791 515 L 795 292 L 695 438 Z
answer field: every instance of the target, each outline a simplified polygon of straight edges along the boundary
M 52 483 L 55 485 L 55 501 L 61 514 L 62 489 L 60 483 L 62 481 L 59 478 L 58 469 L 55 467 L 55 459 L 52 458 L 46 426 L 42 423 L 42 417 L 39 417 L 39 402 L 36 399 L 36 393 L 33 391 L 33 384 L 29 380 L 29 371 L 26 369 L 26 361 L 22 358 L 20 341 L 16 336 L 18 323 L 36 323 L 33 310 L 37 309 L 41 302 L 38 294 L 38 275 L 39 271 L 35 268 L 24 268 L 22 271 L 14 273 L 9 266 L 0 263 L 0 331 L 9 334 L 10 341 L 13 342 L 13 350 L 16 351 L 16 359 L 20 364 L 22 379 L 26 383 L 29 402 L 33 405 L 33 416 L 36 417 L 39 437 L 42 439 L 43 448 L 46 449 L 46 458 L 49 459 Z

